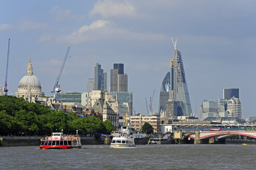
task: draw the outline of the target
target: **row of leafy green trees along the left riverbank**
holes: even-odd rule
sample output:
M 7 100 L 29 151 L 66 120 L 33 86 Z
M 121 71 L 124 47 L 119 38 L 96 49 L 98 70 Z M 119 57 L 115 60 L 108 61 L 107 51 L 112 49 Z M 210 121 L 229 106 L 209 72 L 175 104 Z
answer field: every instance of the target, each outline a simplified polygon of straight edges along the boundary
M 115 128 L 109 120 L 96 117 L 78 118 L 73 113 L 51 110 L 15 96 L 0 96 L 0 135 L 47 135 L 63 130 L 66 134 L 104 133 Z

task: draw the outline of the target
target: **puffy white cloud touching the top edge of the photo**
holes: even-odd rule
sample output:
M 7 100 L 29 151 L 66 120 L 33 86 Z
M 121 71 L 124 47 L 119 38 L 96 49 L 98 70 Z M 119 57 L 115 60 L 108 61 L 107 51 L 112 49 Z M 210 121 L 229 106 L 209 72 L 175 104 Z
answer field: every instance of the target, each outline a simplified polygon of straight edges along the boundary
M 91 15 L 100 15 L 103 18 L 118 17 L 118 16 L 132 16 L 135 8 L 127 1 L 98 1 L 94 8 L 90 11 Z

